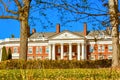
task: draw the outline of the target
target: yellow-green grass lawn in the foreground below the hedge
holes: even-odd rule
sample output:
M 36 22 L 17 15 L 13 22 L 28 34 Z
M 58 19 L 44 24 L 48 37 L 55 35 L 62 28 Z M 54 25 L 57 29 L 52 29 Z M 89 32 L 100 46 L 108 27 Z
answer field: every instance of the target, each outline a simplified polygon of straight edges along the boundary
M 120 70 L 13 69 L 0 70 L 0 80 L 120 80 Z

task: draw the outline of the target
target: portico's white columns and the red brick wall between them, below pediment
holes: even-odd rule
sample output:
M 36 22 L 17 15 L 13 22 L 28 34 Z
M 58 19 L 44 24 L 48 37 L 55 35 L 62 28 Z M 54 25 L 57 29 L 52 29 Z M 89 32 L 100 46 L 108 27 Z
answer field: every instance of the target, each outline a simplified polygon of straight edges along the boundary
M 86 46 L 84 43 L 49 44 L 50 60 L 85 60 Z

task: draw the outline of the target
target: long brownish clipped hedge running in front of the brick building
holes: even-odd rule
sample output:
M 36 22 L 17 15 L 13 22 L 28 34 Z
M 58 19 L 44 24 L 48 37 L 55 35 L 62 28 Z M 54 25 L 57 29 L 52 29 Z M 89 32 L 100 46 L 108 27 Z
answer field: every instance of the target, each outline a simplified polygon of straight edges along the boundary
M 72 69 L 108 68 L 111 60 L 68 61 L 68 60 L 7 60 L 0 62 L 0 69 Z

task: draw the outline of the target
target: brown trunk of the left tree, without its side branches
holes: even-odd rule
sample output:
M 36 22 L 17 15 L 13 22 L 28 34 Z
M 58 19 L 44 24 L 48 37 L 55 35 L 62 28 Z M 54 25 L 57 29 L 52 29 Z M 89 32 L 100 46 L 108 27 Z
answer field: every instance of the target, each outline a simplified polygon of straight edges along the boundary
M 23 0 L 24 6 L 20 10 L 20 59 L 27 60 L 28 49 L 28 17 L 31 0 Z

